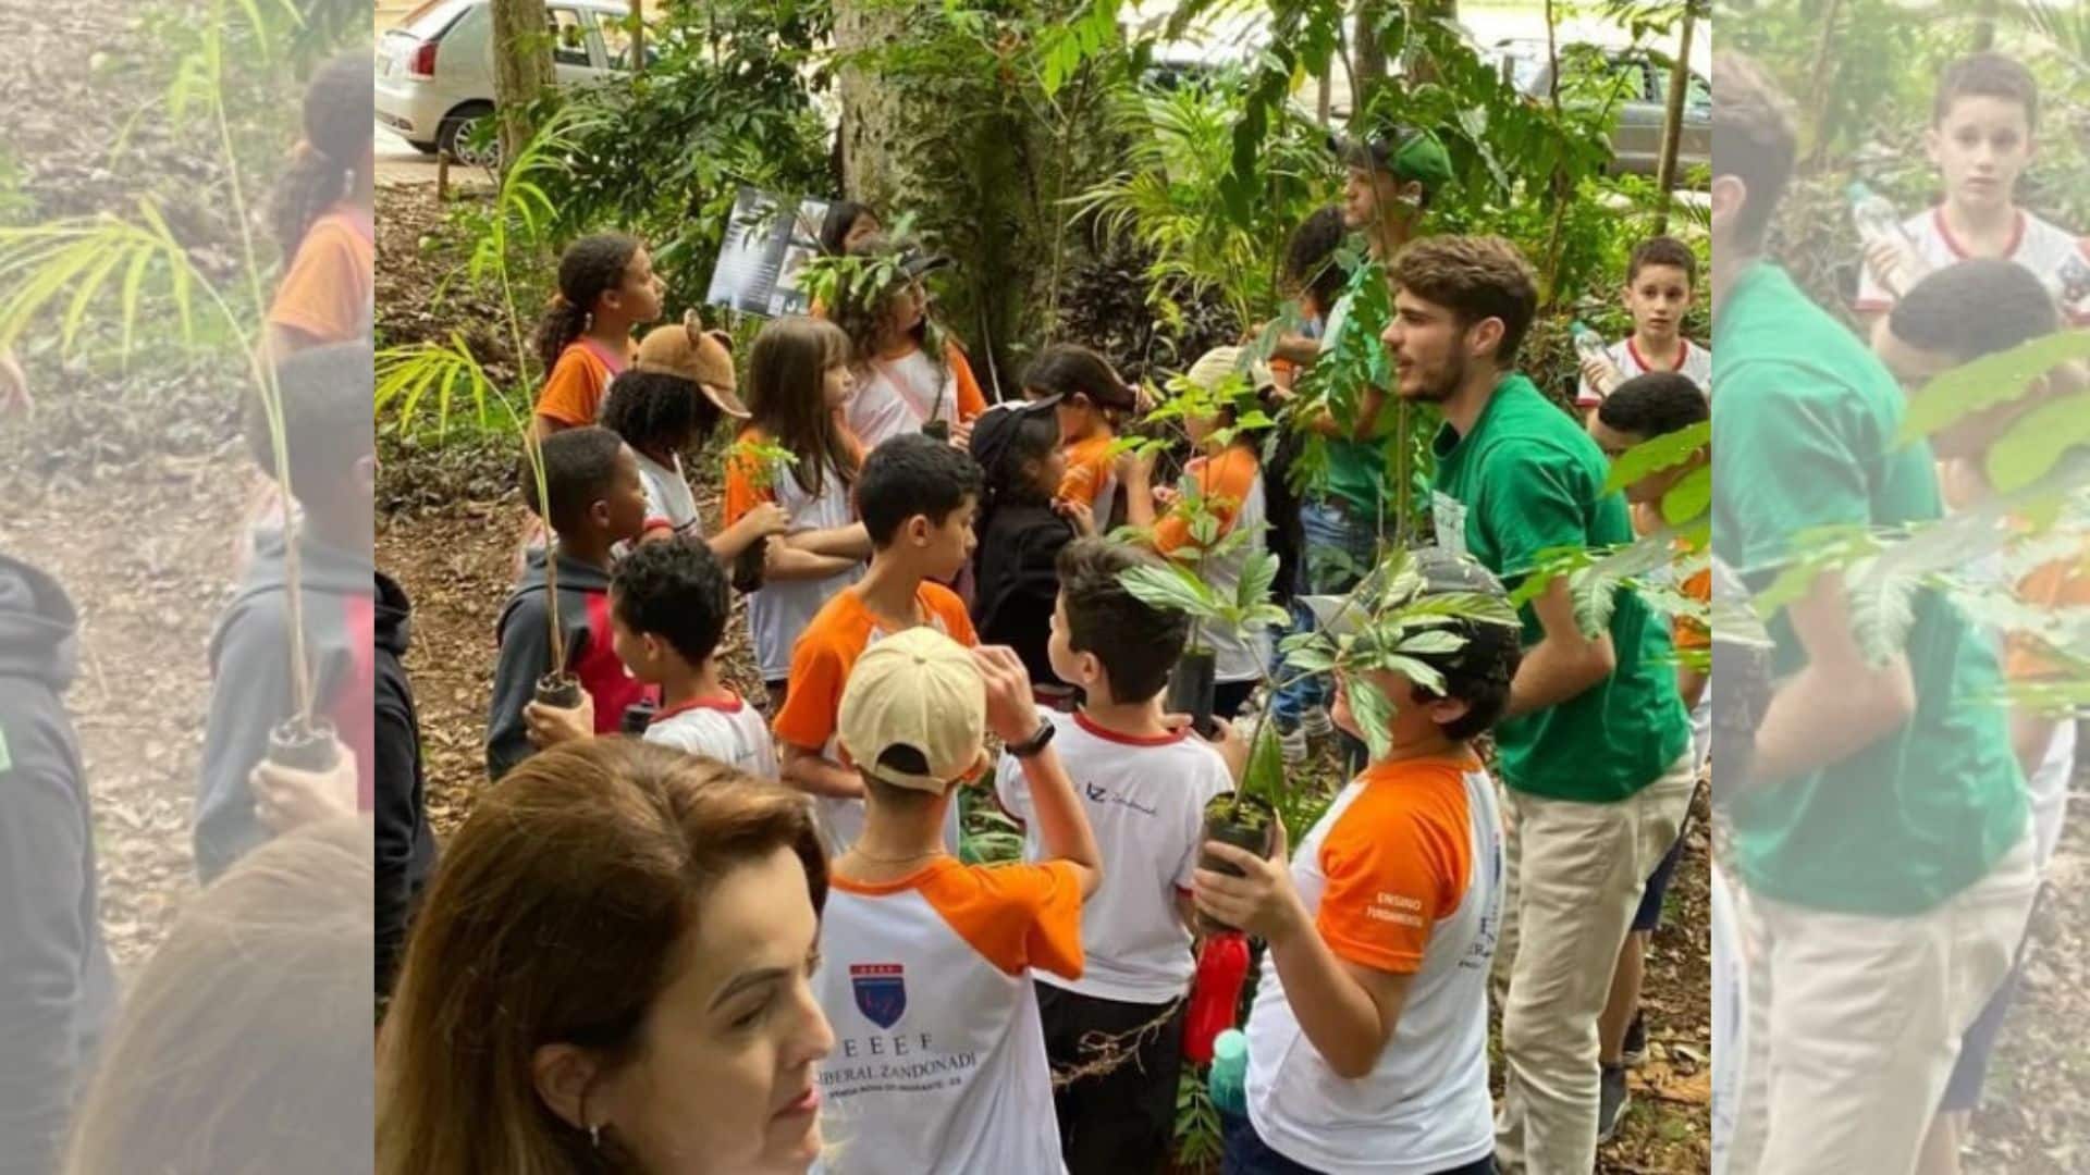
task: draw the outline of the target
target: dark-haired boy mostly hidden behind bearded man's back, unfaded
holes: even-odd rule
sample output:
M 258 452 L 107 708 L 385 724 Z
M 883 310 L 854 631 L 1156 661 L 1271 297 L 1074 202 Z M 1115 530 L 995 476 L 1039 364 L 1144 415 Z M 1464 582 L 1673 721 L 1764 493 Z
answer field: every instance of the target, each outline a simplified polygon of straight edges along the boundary
M 1634 447 L 1682 433 L 1703 424 L 1712 416 L 1705 389 L 1680 372 L 1655 372 L 1632 376 L 1611 389 L 1611 395 L 1590 414 L 1588 435 L 1613 462 Z M 1632 506 L 1632 529 L 1641 535 L 1659 533 L 1662 498 L 1685 477 L 1705 468 L 1712 460 L 1710 447 L 1689 454 L 1685 460 L 1649 473 L 1626 487 L 1626 504 Z M 1693 558 L 1689 546 L 1678 544 L 1682 558 Z M 1699 604 L 1712 604 L 1712 569 L 1701 567 L 1682 581 L 1682 594 Z M 1678 650 L 1695 648 L 1710 654 L 1712 631 L 1693 617 L 1676 617 L 1670 625 Z M 1712 746 L 1712 696 L 1708 692 L 1710 665 L 1676 665 L 1676 692 L 1685 709 L 1691 711 L 1691 761 L 1699 771 Z M 1647 1054 L 1647 1022 L 1641 1018 L 1641 974 L 1647 960 L 1647 941 L 1662 928 L 1662 901 L 1676 876 L 1676 861 L 1682 857 L 1682 836 L 1670 843 L 1662 863 L 1647 876 L 1641 893 L 1641 907 L 1632 914 L 1632 928 L 1626 945 L 1618 951 L 1618 966 L 1611 972 L 1611 995 L 1597 1020 L 1597 1037 L 1603 1052 L 1597 1054 L 1603 1066 L 1603 1087 L 1597 1112 L 1597 1139 L 1609 1142 L 1618 1133 L 1618 1123 L 1632 1102 L 1626 1091 L 1626 1066 L 1639 1064 Z

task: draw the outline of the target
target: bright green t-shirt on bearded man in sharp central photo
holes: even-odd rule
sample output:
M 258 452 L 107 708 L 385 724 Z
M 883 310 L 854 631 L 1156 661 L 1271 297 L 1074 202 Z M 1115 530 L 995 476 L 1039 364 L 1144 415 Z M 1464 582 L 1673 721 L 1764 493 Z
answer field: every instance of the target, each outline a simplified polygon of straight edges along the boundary
M 1436 435 L 1432 510 L 1438 544 L 1463 550 L 1517 585 L 1553 548 L 1632 542 L 1620 493 L 1605 493 L 1609 466 L 1572 416 L 1530 378 L 1503 376 L 1473 431 Z M 1545 629 L 1522 608 L 1524 646 Z M 1622 801 L 1662 778 L 1691 746 L 1691 719 L 1676 696 L 1670 625 L 1636 592 L 1611 613 L 1618 667 L 1588 690 L 1494 728 L 1503 782 L 1519 792 L 1582 803 Z

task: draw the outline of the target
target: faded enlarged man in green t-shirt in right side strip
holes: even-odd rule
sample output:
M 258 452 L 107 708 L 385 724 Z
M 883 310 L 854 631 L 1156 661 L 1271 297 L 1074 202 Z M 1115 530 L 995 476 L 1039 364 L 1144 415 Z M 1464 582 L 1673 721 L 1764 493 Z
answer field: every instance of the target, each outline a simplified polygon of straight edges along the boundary
M 1937 473 L 1902 443 L 1879 360 L 1764 257 L 1793 174 L 1787 100 L 1714 63 L 1714 554 L 1751 592 L 1825 529 L 1935 523 Z M 1942 594 L 1868 650 L 1843 571 L 1768 623 L 1779 690 L 1747 778 L 1720 778 L 1749 891 L 1743 1104 L 1728 1162 L 1906 1175 L 1960 1035 L 2002 983 L 2036 886 L 2025 784 L 1988 640 Z

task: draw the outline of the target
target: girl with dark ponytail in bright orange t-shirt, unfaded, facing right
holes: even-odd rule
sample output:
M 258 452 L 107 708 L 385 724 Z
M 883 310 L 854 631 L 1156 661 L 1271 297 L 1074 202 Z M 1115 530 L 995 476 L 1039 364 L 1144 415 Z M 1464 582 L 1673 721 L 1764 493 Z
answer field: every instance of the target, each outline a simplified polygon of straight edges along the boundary
M 585 429 L 602 414 L 610 381 L 631 366 L 631 328 L 660 318 L 660 278 L 646 243 L 598 232 L 558 259 L 558 295 L 537 322 L 537 435 Z

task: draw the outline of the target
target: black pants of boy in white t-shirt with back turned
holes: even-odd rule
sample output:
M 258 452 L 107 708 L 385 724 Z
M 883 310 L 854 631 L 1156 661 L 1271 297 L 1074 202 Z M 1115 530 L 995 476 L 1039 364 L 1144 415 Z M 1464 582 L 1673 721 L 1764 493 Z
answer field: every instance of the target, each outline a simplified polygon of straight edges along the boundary
M 1037 991 L 1045 1056 L 1055 1075 L 1101 1066 L 1106 1056 L 1093 1037 L 1122 1037 L 1108 1050 L 1122 1054 L 1116 1068 L 1068 1081 L 1051 1093 L 1068 1175 L 1154 1175 L 1175 1133 L 1187 1001 L 1177 999 L 1170 1010 L 1168 1004 L 1076 995 L 1049 983 L 1039 983 Z

